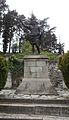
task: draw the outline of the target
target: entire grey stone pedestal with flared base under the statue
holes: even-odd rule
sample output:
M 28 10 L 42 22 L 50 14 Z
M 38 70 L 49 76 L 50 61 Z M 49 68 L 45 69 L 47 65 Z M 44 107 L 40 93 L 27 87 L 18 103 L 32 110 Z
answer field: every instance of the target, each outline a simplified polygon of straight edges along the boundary
M 24 57 L 24 78 L 17 88 L 21 94 L 54 94 L 48 75 L 48 58 L 42 55 Z

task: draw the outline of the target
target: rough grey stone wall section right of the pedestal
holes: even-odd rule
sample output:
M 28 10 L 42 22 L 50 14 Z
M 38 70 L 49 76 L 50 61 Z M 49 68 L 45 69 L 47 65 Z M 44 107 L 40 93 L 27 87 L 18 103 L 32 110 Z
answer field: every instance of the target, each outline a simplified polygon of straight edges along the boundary
M 49 78 L 54 87 L 63 88 L 63 75 L 58 69 L 57 63 L 52 62 L 49 64 Z

